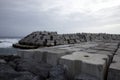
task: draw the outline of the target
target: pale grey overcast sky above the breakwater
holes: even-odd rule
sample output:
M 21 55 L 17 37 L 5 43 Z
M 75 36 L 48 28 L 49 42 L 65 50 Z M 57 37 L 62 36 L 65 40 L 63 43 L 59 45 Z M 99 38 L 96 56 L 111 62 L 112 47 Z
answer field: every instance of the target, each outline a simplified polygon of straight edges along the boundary
M 0 0 L 0 36 L 43 30 L 120 34 L 120 0 Z

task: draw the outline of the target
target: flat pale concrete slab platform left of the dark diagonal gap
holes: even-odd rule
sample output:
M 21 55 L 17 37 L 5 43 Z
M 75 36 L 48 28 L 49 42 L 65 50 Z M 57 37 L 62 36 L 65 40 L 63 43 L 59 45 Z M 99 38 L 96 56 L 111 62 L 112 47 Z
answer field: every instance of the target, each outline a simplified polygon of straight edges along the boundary
M 52 66 L 60 64 L 71 80 L 105 80 L 113 56 L 119 55 L 120 50 L 117 48 L 118 43 L 83 42 L 20 50 L 18 55 L 28 61 L 34 60 Z

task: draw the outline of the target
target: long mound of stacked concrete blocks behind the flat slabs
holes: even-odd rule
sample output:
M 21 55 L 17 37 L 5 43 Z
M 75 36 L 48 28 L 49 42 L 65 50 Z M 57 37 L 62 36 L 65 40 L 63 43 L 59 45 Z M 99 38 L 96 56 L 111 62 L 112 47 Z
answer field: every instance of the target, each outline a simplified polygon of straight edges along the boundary
M 112 35 L 112 34 L 92 34 L 92 33 L 75 33 L 75 34 L 57 34 L 57 32 L 48 32 L 48 31 L 36 31 L 22 40 L 19 41 L 20 45 L 30 45 L 30 46 L 38 46 L 41 47 L 43 44 L 41 44 L 41 40 L 43 40 L 44 46 L 47 46 L 45 44 L 50 44 L 49 40 L 51 41 L 51 44 L 55 45 L 63 45 L 63 44 L 75 44 L 80 42 L 119 42 L 120 35 Z M 47 40 L 49 43 L 47 43 Z M 36 44 L 40 43 L 40 44 Z M 51 45 L 52 46 L 52 45 Z

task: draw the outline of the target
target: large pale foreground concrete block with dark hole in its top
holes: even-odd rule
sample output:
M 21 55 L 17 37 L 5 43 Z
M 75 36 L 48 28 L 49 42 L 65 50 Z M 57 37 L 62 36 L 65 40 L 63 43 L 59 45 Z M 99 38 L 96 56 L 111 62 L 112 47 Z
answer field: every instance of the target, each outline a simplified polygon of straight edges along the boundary
M 106 55 L 74 52 L 70 55 L 62 56 L 60 64 L 67 67 L 68 75 L 72 77 L 79 74 L 87 74 L 94 76 L 98 80 L 104 80 L 108 60 L 109 58 Z

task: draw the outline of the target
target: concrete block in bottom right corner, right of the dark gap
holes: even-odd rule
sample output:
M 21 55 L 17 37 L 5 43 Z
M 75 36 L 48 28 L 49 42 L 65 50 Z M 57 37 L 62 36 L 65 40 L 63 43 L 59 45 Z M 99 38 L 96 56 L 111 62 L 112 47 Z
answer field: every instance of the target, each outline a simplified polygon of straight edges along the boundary
M 120 56 L 114 56 L 108 70 L 107 80 L 120 80 Z

